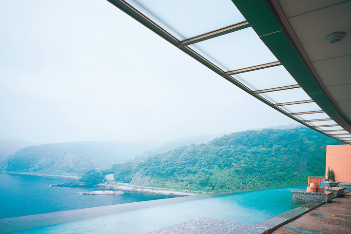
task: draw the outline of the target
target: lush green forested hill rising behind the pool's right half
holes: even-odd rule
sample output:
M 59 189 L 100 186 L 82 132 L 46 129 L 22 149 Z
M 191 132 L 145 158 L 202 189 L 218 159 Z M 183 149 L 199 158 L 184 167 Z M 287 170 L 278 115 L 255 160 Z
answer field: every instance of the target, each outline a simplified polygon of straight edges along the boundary
M 324 176 L 326 145 L 342 144 L 307 127 L 224 135 L 207 144 L 115 164 L 115 179 L 151 187 L 230 191 L 305 184 Z

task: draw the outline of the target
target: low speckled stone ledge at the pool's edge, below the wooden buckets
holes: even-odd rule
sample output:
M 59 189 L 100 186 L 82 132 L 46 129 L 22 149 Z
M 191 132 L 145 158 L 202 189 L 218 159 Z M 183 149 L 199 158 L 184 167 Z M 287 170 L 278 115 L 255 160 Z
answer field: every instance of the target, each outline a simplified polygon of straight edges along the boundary
M 292 190 L 292 203 L 303 203 L 303 202 L 331 202 L 332 192 L 325 193 L 314 193 L 306 192 L 306 190 L 293 189 Z

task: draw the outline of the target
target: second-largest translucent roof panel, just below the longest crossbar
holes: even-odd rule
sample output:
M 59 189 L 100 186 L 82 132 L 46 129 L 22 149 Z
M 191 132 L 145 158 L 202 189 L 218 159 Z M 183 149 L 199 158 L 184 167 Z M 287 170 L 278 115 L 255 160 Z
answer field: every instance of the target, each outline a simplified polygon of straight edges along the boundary
M 189 47 L 225 72 L 277 61 L 251 27 Z

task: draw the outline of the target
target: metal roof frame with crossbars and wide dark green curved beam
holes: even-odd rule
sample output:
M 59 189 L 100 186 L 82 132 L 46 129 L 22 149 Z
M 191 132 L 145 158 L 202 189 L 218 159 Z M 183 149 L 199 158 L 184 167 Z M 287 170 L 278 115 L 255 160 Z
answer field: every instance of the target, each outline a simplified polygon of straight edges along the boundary
M 171 33 L 167 32 L 165 29 L 157 25 L 154 21 L 147 18 L 144 14 L 135 9 L 131 4 L 125 0 L 108 0 L 113 5 L 118 7 L 120 10 L 155 32 L 157 35 L 167 40 L 178 49 L 182 50 L 189 56 L 193 57 L 212 71 L 214 71 L 219 76 L 227 79 L 231 83 L 238 86 L 240 89 L 244 90 L 246 93 L 252 95 L 254 98 L 259 99 L 265 104 L 271 106 L 273 109 L 279 111 L 280 113 L 294 119 L 295 121 L 314 129 L 315 131 L 324 134 L 326 136 L 335 138 L 339 141 L 349 143 L 346 140 L 343 140 L 340 136 L 343 134 L 328 134 L 332 130 L 320 130 L 318 127 L 334 127 L 342 126 L 344 129 L 337 131 L 347 131 L 351 132 L 351 123 L 343 117 L 340 111 L 333 105 L 332 100 L 320 87 L 319 83 L 316 81 L 316 78 L 313 76 L 312 71 L 309 69 L 309 66 L 306 64 L 306 61 L 303 59 L 303 56 L 299 53 L 296 45 L 294 44 L 292 38 L 290 37 L 287 29 L 284 27 L 282 21 L 280 20 L 278 14 L 276 13 L 274 6 L 269 0 L 232 0 L 241 14 L 245 17 L 247 21 L 235 23 L 233 25 L 220 28 L 202 35 L 195 36 L 193 38 L 178 40 L 176 37 L 172 36 Z M 271 50 L 273 55 L 279 60 L 274 62 L 269 62 L 265 64 L 258 64 L 251 67 L 241 68 L 233 71 L 224 71 L 213 62 L 206 59 L 204 56 L 198 54 L 196 51 L 188 47 L 188 45 L 195 44 L 197 42 L 205 41 L 208 39 L 213 39 L 215 37 L 220 37 L 225 34 L 233 33 L 248 27 L 252 27 L 258 37 L 264 42 L 264 44 Z M 264 90 L 253 91 L 250 88 L 246 87 L 244 84 L 240 83 L 231 75 L 251 72 L 260 69 L 266 69 L 274 66 L 283 65 L 284 68 L 292 75 L 292 77 L 297 81 L 296 85 L 282 86 L 269 88 Z M 307 95 L 312 99 L 300 100 L 300 101 L 291 101 L 284 103 L 272 103 L 271 101 L 261 97 L 259 94 L 302 88 Z M 322 110 L 318 111 L 306 111 L 298 113 L 288 113 L 279 106 L 283 105 L 293 105 L 293 104 L 303 104 L 303 103 L 312 103 L 315 102 Z M 296 117 L 297 115 L 305 114 L 316 114 L 316 113 L 326 113 L 330 118 L 323 119 L 311 119 L 311 120 L 302 120 Z M 312 126 L 308 122 L 313 121 L 327 121 L 334 120 L 338 124 L 333 125 L 319 125 Z M 336 130 L 335 130 L 336 131 Z M 344 134 L 349 135 L 349 134 Z

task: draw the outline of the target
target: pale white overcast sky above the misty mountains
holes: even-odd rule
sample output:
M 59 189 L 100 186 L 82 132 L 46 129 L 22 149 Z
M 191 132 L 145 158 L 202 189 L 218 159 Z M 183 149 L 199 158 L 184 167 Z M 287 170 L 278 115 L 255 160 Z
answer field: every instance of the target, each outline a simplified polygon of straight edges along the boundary
M 167 141 L 297 123 L 106 0 L 1 0 L 0 32 L 0 139 Z

